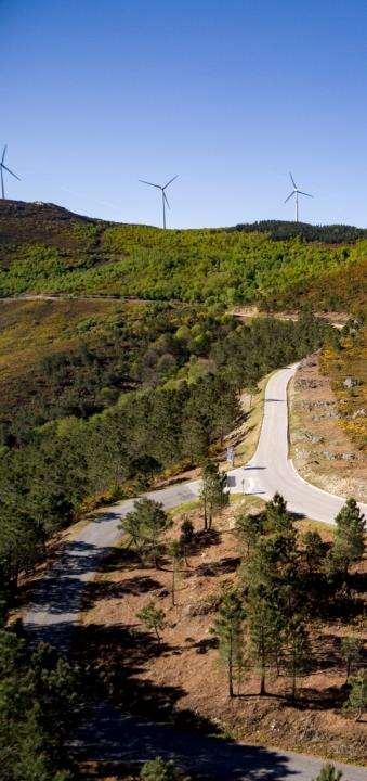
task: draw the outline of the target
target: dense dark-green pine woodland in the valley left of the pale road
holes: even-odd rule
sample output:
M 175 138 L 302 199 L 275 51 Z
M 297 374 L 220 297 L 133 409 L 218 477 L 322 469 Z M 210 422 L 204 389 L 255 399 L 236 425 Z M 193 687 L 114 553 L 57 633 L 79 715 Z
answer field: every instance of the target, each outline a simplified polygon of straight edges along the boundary
M 100 312 L 96 333 L 73 346 L 63 332 L 66 349 L 57 345 L 36 366 L 29 361 L 25 375 L 3 377 L 3 600 L 54 532 L 97 502 L 146 489 L 163 470 L 205 460 L 240 420 L 240 388 L 335 340 L 307 312 L 298 323 L 244 325 L 200 308 L 136 306 L 108 308 L 113 322 L 101 323 Z M 215 511 L 214 496 L 210 502 Z

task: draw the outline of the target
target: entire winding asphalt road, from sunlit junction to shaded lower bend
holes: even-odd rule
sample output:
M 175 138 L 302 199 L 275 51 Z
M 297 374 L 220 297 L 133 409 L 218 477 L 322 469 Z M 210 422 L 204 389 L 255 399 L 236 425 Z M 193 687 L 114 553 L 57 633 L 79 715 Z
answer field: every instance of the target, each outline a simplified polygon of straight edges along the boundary
M 228 472 L 233 492 L 253 494 L 264 499 L 278 490 L 288 507 L 300 515 L 332 523 L 344 499 L 305 483 L 288 459 L 287 387 L 297 364 L 281 369 L 268 381 L 264 417 L 257 451 L 244 468 Z M 199 481 L 175 484 L 150 491 L 147 496 L 171 509 L 198 496 Z M 24 619 L 30 637 L 67 646 L 73 628 L 78 625 L 86 584 L 99 572 L 101 560 L 116 545 L 120 518 L 133 505 L 123 501 L 108 509 L 88 525 L 75 532 L 56 555 L 50 572 L 42 577 Z M 359 505 L 367 514 L 367 505 Z M 273 748 L 231 743 L 178 732 L 165 726 L 122 716 L 108 705 L 101 705 L 87 725 L 81 726 L 80 745 L 88 745 L 89 757 L 116 760 L 146 759 L 157 754 L 176 756 L 189 770 L 212 779 L 252 781 L 289 776 L 311 781 L 323 765 L 320 759 Z M 338 764 L 345 781 L 363 781 L 366 769 Z

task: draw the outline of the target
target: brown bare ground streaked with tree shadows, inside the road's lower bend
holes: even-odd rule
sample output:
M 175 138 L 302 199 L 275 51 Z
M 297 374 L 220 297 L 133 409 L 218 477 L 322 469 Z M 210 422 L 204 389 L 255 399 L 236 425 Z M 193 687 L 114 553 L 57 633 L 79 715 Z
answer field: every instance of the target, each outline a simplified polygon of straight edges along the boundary
M 267 696 L 260 697 L 259 677 L 249 666 L 234 700 L 227 696 L 226 674 L 211 633 L 218 596 L 224 584 L 233 582 L 240 562 L 234 534 L 237 508 L 257 512 L 260 499 L 234 497 L 235 503 L 215 521 L 215 532 L 196 537 L 188 565 L 182 565 L 172 605 L 172 568 L 169 560 L 161 569 L 142 567 L 124 546 L 106 561 L 104 572 L 87 587 L 80 627 L 82 649 L 100 671 L 115 702 L 134 713 L 181 726 L 205 729 L 252 743 L 283 750 L 318 754 L 333 759 L 362 763 L 366 754 L 367 721 L 356 724 L 343 715 L 346 699 L 345 669 L 340 657 L 340 637 L 363 635 L 363 603 L 357 600 L 354 616 L 338 618 L 311 629 L 315 664 L 300 682 L 299 700 L 289 699 L 285 674 L 268 673 Z M 174 511 L 178 529 L 184 508 Z M 202 528 L 198 508 L 187 513 L 196 530 Z M 299 527 L 317 528 L 330 541 L 332 529 L 311 521 Z M 367 562 L 355 573 L 356 581 Z M 163 609 L 167 626 L 158 643 L 137 613 L 154 600 Z

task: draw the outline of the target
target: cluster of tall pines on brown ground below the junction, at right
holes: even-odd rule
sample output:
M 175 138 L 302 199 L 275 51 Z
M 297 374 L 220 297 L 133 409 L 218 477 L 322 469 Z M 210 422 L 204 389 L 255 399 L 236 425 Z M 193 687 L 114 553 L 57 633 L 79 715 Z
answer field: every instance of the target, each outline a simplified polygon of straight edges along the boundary
M 252 518 L 252 524 L 250 522 Z M 346 522 L 348 518 L 348 522 Z M 267 502 L 264 512 L 248 516 L 238 513 L 235 533 L 240 543 L 243 562 L 237 581 L 219 599 L 213 631 L 219 653 L 226 663 L 228 695 L 234 696 L 234 680 L 244 666 L 259 673 L 259 694 L 267 692 L 270 674 L 288 679 L 292 702 L 299 697 L 300 677 L 313 668 L 312 624 L 325 623 L 333 613 L 348 614 L 354 605 L 349 587 L 349 565 L 364 554 L 365 520 L 353 499 L 348 500 L 337 521 L 333 542 L 324 543 L 325 555 L 315 558 L 310 566 L 310 546 L 319 553 L 315 534 L 301 537 L 294 518 L 287 512 L 278 494 Z M 354 558 L 337 555 L 339 529 L 345 525 L 358 529 L 361 545 L 353 547 Z M 344 550 L 344 547 L 343 547 Z M 329 561 L 335 569 L 330 577 Z M 345 638 L 341 658 L 348 676 L 359 661 L 361 643 Z M 344 708 L 361 718 L 366 704 L 366 678 L 357 671 L 351 680 Z

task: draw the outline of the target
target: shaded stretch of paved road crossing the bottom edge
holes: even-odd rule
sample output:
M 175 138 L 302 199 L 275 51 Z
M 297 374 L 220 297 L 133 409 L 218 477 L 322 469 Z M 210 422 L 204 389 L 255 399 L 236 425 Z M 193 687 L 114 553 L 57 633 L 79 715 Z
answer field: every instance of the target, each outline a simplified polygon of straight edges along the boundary
M 304 754 L 232 743 L 198 732 L 179 732 L 146 719 L 123 716 L 106 705 L 99 707 L 82 726 L 79 744 L 88 745 L 90 760 L 114 766 L 118 761 L 141 763 L 162 756 L 212 781 L 312 781 L 324 765 L 317 757 Z M 338 763 L 338 768 L 343 771 L 343 781 L 366 781 L 366 768 L 342 763 Z

